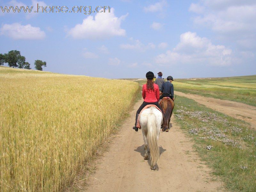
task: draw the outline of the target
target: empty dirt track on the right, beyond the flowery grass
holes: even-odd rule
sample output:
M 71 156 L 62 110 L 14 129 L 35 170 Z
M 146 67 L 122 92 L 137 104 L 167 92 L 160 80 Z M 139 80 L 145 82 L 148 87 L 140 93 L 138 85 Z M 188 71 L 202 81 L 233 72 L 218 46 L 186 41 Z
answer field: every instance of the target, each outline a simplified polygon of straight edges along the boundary
M 212 108 L 228 116 L 244 120 L 245 122 L 251 124 L 251 128 L 256 129 L 256 107 L 254 106 L 246 105 L 244 103 L 239 103 L 235 101 L 220 100 L 210 97 L 203 97 L 200 95 L 187 94 L 178 91 L 175 91 L 174 94 L 182 97 L 187 97 L 189 99 L 193 99 L 196 102 L 203 104 L 208 108 Z

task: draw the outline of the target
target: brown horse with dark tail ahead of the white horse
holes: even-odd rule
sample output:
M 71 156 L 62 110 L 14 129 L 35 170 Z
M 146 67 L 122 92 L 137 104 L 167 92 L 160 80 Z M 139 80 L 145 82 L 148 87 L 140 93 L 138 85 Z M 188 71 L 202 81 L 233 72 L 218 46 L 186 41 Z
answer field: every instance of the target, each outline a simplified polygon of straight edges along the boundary
M 171 98 L 164 97 L 159 102 L 159 105 L 164 110 L 164 124 L 163 124 L 162 131 L 169 132 L 169 129 L 170 129 L 169 124 L 170 124 L 170 121 L 171 121 L 172 110 L 174 108 L 174 102 Z

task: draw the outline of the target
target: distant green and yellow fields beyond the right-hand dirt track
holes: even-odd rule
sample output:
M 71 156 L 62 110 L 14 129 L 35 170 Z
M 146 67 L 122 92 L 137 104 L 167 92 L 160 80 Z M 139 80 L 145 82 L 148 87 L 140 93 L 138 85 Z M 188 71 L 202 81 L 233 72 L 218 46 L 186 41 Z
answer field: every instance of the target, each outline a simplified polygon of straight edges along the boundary
M 136 81 L 139 84 L 146 80 Z M 174 79 L 175 91 L 193 93 L 205 97 L 233 100 L 256 106 L 256 75 L 222 77 L 222 78 L 191 78 Z

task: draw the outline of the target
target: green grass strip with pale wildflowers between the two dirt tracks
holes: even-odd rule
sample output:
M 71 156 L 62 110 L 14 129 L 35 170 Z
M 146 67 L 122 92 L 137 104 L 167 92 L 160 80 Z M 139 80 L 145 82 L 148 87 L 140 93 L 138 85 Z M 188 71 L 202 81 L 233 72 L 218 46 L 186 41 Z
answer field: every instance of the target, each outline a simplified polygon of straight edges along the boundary
M 229 190 L 256 191 L 256 132 L 247 123 L 184 97 L 175 100 L 174 114 L 180 127 L 195 140 L 202 160 Z

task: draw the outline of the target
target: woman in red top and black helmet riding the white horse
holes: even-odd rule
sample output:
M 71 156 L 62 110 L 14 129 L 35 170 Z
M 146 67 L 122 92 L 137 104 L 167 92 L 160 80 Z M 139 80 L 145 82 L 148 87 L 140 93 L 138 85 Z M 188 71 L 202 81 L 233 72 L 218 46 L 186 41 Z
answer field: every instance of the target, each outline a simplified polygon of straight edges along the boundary
M 157 84 L 154 84 L 153 78 L 154 73 L 151 71 L 148 71 L 146 73 L 147 83 L 142 86 L 142 97 L 144 99 L 143 103 L 141 104 L 140 108 L 136 112 L 136 120 L 135 120 L 135 126 L 132 128 L 135 131 L 138 131 L 138 127 L 136 127 L 138 116 L 140 114 L 140 111 L 146 106 L 146 105 L 156 105 L 162 113 L 164 113 L 163 109 L 158 104 L 159 101 L 159 87 Z

